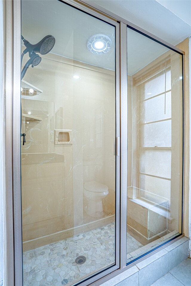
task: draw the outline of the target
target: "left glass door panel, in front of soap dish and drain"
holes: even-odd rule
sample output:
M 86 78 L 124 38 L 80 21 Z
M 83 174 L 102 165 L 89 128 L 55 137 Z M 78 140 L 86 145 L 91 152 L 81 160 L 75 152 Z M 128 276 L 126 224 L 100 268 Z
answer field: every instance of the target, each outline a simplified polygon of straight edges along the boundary
M 73 285 L 115 265 L 115 26 L 21 2 L 23 281 Z

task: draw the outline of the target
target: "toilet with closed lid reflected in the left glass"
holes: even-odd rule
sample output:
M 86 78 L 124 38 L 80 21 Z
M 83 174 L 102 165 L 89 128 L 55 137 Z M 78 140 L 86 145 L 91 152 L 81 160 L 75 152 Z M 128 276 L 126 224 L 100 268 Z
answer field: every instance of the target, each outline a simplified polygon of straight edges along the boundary
M 84 196 L 87 198 L 87 214 L 91 217 L 103 216 L 102 200 L 108 195 L 108 186 L 96 181 L 84 184 Z

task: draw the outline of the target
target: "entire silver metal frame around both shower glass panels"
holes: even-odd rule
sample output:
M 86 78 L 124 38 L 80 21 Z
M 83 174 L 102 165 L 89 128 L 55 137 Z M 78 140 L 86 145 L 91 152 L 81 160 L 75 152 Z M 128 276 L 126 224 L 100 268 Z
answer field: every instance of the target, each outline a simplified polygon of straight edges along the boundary
M 160 246 L 158 249 L 126 266 L 126 228 L 127 228 L 127 25 L 147 37 L 162 43 L 183 55 L 184 52 L 127 20 L 93 4 L 91 1 L 63 1 L 85 13 L 106 21 L 116 27 L 116 137 L 121 138 L 121 156 L 116 156 L 116 264 L 94 274 L 78 284 L 101 285 L 108 279 L 132 267 L 175 242 L 183 235 Z M 85 6 L 84 6 L 85 4 Z M 21 170 L 20 170 L 20 56 L 21 56 L 21 1 L 6 1 L 6 178 L 7 178 L 7 243 L 9 255 L 7 262 L 8 285 L 22 285 L 22 229 L 21 229 Z M 120 31 L 119 31 L 120 29 Z M 120 46 L 119 46 L 120 43 Z M 184 65 L 184 64 L 183 64 Z M 184 72 L 183 72 L 184 85 Z M 10 112 L 11 111 L 11 112 Z M 184 111 L 183 111 L 184 116 Z M 121 122 L 120 122 L 121 120 Z M 121 123 L 121 126 L 120 126 Z M 184 122 L 185 124 L 185 122 Z M 120 129 L 121 128 L 121 129 Z M 185 136 L 185 133 L 184 133 Z M 184 138 L 183 138 L 184 141 Z M 11 151 L 11 152 L 10 152 Z M 120 164 L 121 163 L 121 164 Z M 120 172 L 121 166 L 121 172 Z M 120 180 L 121 181 L 120 181 Z M 184 176 L 183 176 L 184 182 Z M 121 186 L 121 193 L 120 193 Z M 184 195 L 184 189 L 183 189 Z M 13 200 L 12 200 L 13 198 Z M 184 212 L 184 205 L 182 211 Z M 121 212 L 121 213 L 120 213 Z M 183 221 L 184 223 L 184 221 Z M 183 225 L 184 227 L 184 225 Z M 14 284 L 13 284 L 14 283 Z

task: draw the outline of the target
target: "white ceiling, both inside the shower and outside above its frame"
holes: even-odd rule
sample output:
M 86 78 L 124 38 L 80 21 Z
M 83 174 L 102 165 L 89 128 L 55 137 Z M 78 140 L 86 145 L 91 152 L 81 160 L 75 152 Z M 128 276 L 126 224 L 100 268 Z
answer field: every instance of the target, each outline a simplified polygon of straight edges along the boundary
M 165 41 L 176 44 L 191 35 L 190 26 L 185 19 L 181 19 L 183 16 L 178 17 L 158 3 L 163 1 L 91 0 Z M 95 34 L 108 35 L 114 42 L 113 26 L 57 0 L 22 0 L 21 3 L 22 35 L 28 41 L 34 44 L 45 35 L 53 35 L 56 43 L 51 52 L 95 66 L 115 69 L 114 48 L 104 55 L 94 55 L 87 49 L 88 38 Z M 186 21 L 188 18 L 187 15 Z M 167 51 L 164 46 L 130 29 L 128 40 L 130 75 Z

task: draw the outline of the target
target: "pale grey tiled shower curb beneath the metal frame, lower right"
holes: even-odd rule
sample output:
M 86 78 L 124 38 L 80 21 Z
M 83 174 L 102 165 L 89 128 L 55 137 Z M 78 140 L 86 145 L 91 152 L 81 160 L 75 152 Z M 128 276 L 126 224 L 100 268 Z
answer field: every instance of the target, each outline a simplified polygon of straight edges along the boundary
M 101 286 L 150 286 L 189 257 L 189 238 L 182 237 Z M 97 285 L 97 284 L 96 284 Z

